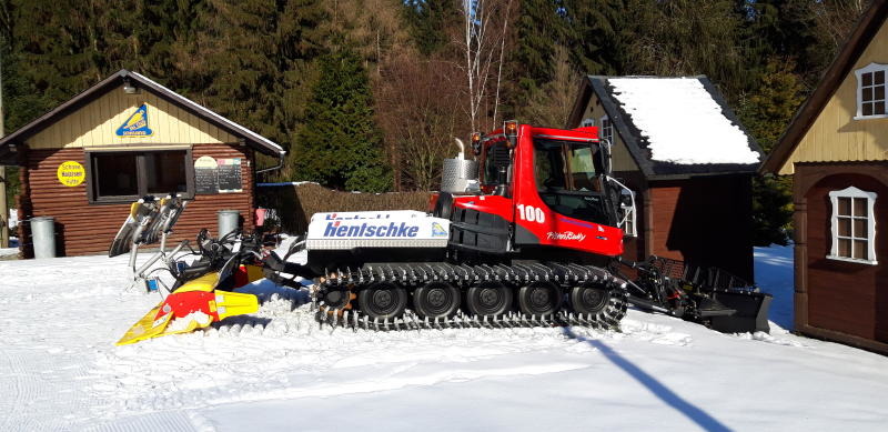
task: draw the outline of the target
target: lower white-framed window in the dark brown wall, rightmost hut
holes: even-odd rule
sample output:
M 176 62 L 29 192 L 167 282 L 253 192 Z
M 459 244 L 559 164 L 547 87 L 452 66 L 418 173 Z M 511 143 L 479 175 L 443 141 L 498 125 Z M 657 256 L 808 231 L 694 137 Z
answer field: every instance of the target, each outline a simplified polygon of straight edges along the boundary
M 829 192 L 833 204 L 833 244 L 827 258 L 877 264 L 876 193 L 850 187 Z

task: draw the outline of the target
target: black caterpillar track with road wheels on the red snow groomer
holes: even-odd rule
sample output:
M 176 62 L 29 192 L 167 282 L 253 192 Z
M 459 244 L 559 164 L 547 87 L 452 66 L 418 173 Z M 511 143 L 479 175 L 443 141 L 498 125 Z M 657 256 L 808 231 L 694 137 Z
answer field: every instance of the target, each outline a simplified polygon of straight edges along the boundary
M 598 267 L 576 263 L 369 263 L 329 270 L 327 274 L 333 277 L 317 293 L 322 299 L 317 320 L 371 330 L 618 329 L 628 305 L 624 280 Z M 413 292 L 414 310 L 404 311 L 407 291 Z M 571 299 L 566 303 L 564 293 Z M 363 305 L 375 317 L 352 309 L 361 297 L 367 299 Z M 514 299 L 518 308 L 512 308 Z

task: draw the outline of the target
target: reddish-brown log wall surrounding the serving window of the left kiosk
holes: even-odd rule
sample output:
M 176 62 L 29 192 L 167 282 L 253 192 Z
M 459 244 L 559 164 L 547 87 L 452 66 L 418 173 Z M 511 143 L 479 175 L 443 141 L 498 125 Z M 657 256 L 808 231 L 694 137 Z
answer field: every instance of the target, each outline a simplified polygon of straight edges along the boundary
M 196 195 L 185 208 L 175 225 L 172 240 L 194 239 L 201 228 L 216 232 L 218 210 L 239 210 L 244 230 L 253 230 L 253 154 L 243 145 L 204 144 L 194 145 L 194 160 L 202 155 L 213 158 L 243 158 L 241 177 L 243 192 Z M 108 252 L 121 224 L 129 213 L 129 203 L 89 204 L 88 181 L 78 187 L 62 185 L 57 169 L 64 161 L 78 161 L 85 165 L 83 149 L 28 150 L 22 169 L 22 195 L 20 220 L 32 217 L 53 217 L 58 232 L 58 255 L 83 255 Z M 193 162 L 193 161 L 192 161 Z M 27 229 L 26 229 L 27 230 Z M 30 242 L 30 240 L 27 240 Z M 26 254 L 28 254 L 26 248 Z

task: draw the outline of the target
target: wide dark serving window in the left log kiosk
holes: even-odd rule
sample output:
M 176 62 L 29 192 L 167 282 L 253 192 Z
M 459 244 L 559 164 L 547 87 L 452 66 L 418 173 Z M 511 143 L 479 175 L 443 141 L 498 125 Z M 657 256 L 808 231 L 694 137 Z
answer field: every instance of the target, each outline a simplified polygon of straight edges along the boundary
M 130 202 L 144 195 L 194 197 L 191 150 L 89 151 L 91 203 Z

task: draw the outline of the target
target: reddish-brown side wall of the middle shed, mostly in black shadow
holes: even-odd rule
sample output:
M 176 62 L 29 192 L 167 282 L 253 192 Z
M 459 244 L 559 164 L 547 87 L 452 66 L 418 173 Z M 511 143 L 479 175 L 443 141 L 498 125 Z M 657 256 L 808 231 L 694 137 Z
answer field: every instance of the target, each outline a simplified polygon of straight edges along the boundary
M 652 181 L 649 188 L 653 254 L 754 280 L 749 175 Z

